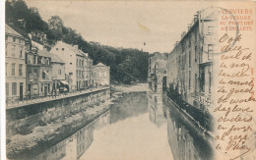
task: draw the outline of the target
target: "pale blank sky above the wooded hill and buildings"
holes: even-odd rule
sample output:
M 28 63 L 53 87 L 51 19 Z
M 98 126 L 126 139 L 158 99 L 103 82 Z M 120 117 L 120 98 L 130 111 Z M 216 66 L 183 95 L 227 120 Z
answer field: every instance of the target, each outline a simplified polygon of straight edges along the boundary
M 59 16 L 87 41 L 113 47 L 170 52 L 197 11 L 200 2 L 167 1 L 26 1 L 44 21 Z M 144 45 L 144 42 L 146 45 Z

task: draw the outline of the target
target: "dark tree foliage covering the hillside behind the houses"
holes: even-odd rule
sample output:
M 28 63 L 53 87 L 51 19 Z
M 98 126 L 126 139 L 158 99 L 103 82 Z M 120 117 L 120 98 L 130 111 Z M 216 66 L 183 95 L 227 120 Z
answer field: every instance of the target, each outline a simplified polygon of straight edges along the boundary
M 26 22 L 26 26 L 24 26 Z M 94 65 L 101 62 L 110 67 L 112 82 L 131 83 L 145 81 L 148 77 L 149 53 L 138 49 L 114 48 L 87 42 L 81 34 L 71 27 L 65 27 L 58 16 L 52 16 L 44 22 L 36 8 L 28 8 L 23 0 L 6 1 L 6 24 L 15 27 L 23 35 L 29 32 L 44 32 L 48 41 L 63 40 L 77 44 L 80 49 L 94 60 Z

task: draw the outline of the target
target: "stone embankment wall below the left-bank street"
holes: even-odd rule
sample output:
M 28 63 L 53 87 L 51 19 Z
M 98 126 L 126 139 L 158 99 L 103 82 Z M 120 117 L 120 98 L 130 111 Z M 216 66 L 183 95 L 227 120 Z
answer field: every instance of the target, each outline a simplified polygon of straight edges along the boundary
M 104 88 L 89 93 L 7 109 L 7 136 L 32 133 L 32 129 L 37 126 L 44 126 L 54 120 L 70 117 L 109 98 L 110 90 Z

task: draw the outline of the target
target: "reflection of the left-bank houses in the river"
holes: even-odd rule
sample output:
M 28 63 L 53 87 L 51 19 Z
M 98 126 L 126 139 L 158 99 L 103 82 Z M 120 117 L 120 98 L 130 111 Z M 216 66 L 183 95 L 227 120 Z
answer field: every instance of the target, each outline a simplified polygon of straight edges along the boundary
M 34 157 L 34 160 L 75 160 L 85 153 L 94 141 L 94 131 L 110 123 L 110 112 L 107 111 L 99 116 L 95 121 L 48 148 L 43 153 Z

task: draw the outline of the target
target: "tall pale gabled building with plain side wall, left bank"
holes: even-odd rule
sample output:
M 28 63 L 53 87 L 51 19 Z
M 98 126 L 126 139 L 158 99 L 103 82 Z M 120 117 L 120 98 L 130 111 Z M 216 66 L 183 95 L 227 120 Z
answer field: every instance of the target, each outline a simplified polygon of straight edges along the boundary
M 93 61 L 88 53 L 79 49 L 78 45 L 58 41 L 50 52 L 58 55 L 65 62 L 65 77 L 70 90 L 85 89 L 92 85 L 90 73 L 92 73 Z

